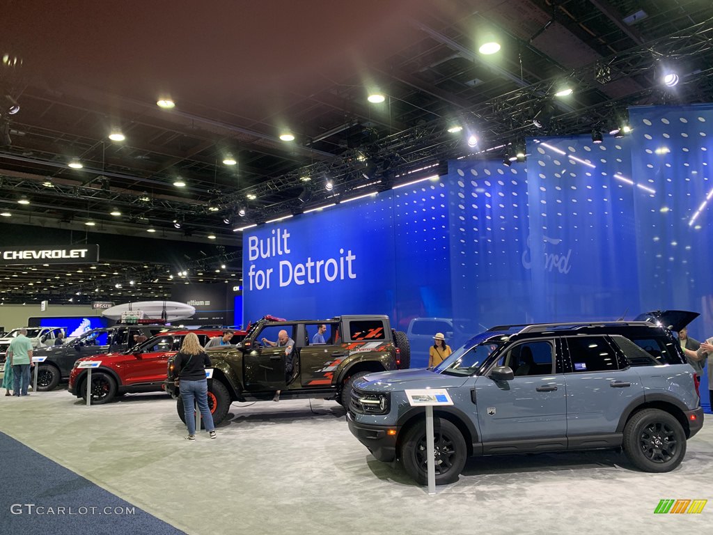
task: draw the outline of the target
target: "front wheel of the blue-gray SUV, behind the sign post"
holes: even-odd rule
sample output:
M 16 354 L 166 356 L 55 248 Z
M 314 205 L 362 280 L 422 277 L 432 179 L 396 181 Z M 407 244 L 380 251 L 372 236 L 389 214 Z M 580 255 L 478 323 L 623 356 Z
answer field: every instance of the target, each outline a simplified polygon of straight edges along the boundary
M 436 485 L 458 480 L 466 464 L 468 448 L 458 427 L 446 419 L 434 417 Z M 426 422 L 411 427 L 401 442 L 401 463 L 406 473 L 421 485 L 429 484 L 426 463 Z

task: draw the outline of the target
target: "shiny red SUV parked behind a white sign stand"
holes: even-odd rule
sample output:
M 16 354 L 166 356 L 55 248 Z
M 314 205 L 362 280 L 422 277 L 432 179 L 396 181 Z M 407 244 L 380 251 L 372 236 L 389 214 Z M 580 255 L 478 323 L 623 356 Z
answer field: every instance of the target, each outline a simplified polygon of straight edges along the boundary
M 168 357 L 175 355 L 189 332 L 198 335 L 200 345 L 222 336 L 222 329 L 172 330 L 149 338 L 141 345 L 120 353 L 106 353 L 77 360 L 69 374 L 69 392 L 86 399 L 86 369 L 77 367 L 84 360 L 101 361 L 91 374 L 91 402 L 103 404 L 128 392 L 160 392 L 166 379 Z M 242 340 L 235 331 L 232 342 Z

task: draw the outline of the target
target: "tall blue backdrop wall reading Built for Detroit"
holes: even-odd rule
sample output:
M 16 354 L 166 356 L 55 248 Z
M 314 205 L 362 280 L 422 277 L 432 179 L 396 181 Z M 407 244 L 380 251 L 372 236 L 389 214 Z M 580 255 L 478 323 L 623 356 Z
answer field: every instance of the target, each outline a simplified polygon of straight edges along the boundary
M 528 139 L 527 163 L 451 161 L 438 180 L 252 229 L 245 321 L 440 317 L 457 346 L 498 324 L 680 308 L 702 312 L 692 337 L 713 336 L 712 123 L 709 105 L 631 108 L 625 138 Z

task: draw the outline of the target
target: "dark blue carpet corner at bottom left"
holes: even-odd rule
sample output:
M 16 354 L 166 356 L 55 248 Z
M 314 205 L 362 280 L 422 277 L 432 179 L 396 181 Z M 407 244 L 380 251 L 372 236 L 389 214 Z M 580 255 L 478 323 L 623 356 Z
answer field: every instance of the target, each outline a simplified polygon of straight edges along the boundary
M 0 452 L 0 534 L 183 534 L 2 432 Z

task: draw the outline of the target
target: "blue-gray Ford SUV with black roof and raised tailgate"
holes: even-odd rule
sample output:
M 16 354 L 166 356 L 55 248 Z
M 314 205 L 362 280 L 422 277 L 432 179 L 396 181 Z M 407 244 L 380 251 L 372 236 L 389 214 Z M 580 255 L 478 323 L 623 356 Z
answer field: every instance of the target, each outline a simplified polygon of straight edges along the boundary
M 672 326 L 679 330 L 680 325 Z M 354 384 L 347 420 L 376 459 L 401 459 L 426 484 L 423 407 L 406 389 L 447 389 L 434 407 L 436 484 L 472 455 L 622 448 L 645 472 L 669 472 L 703 424 L 698 384 L 660 323 L 501 325 L 434 370 L 369 374 Z

